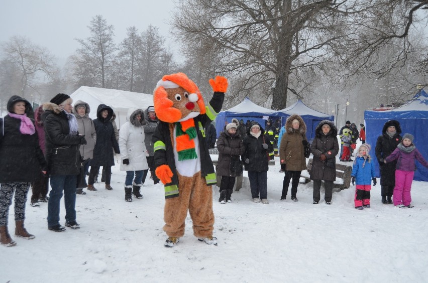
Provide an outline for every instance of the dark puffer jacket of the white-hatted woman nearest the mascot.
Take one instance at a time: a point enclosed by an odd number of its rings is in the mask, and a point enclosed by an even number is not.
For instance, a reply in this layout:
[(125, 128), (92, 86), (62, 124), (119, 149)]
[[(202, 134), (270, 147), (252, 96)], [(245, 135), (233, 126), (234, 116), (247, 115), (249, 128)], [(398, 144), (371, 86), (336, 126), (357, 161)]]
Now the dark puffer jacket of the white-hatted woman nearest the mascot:
[(240, 156), (244, 154), (245, 148), (241, 134), (237, 131), (234, 136), (228, 131), (222, 131), (217, 140), (219, 150), (219, 161), (217, 163), (217, 175), (236, 177), (240, 174), (231, 171), (231, 160), (240, 161)]

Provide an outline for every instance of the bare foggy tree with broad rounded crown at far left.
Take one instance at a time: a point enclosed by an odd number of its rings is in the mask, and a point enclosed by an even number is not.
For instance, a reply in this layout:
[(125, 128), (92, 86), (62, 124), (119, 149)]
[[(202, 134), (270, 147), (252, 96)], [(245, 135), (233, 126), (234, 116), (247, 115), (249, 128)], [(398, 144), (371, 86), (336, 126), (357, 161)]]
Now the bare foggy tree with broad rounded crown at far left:
[(52, 76), (55, 69), (54, 56), (46, 48), (22, 36), (12, 37), (4, 44), (3, 50), (6, 60), (15, 70), (19, 70), (21, 96), (29, 99), (26, 97), (27, 89), (34, 88), (36, 76)]

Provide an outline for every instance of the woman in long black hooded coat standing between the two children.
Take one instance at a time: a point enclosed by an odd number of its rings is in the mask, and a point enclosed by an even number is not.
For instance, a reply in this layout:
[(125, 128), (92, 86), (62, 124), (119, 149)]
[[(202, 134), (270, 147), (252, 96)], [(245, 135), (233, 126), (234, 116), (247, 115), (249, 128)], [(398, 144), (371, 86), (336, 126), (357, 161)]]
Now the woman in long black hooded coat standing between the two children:
[(382, 135), (376, 141), (375, 154), (380, 171), (380, 195), (383, 204), (392, 203), (392, 193), (395, 187), (395, 165), (397, 161), (385, 164), (387, 158), (401, 142), (401, 127), (396, 120), (386, 121), (383, 125)]

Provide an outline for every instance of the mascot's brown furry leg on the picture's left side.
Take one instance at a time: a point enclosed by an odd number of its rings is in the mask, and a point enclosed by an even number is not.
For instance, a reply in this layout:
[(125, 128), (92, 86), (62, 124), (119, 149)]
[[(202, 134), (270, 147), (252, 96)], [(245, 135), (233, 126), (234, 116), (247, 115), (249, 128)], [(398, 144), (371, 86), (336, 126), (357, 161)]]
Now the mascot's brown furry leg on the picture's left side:
[[(187, 179), (189, 181), (187, 181)], [(180, 238), (184, 235), (184, 220), (187, 216), (187, 209), (189, 207), (189, 199), (192, 186), (184, 186), (184, 184), (191, 184), (192, 178), (183, 177), (178, 174), (179, 182), (179, 196), (176, 198), (165, 199), (164, 208), (164, 221), (165, 225), (163, 230), (168, 237)]]

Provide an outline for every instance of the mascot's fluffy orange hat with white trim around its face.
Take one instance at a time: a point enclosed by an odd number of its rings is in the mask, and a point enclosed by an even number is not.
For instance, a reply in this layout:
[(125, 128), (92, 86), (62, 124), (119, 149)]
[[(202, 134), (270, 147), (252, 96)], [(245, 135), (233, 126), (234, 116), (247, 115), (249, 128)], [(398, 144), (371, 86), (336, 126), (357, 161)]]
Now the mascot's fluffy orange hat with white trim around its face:
[(156, 116), (159, 120), (174, 123), (181, 118), (181, 111), (173, 108), (173, 102), (168, 98), (165, 88), (184, 88), (189, 94), (195, 93), (198, 97), (196, 103), (200, 108), (200, 113), (205, 114), (205, 103), (203, 102), (202, 95), (196, 84), (189, 79), (184, 73), (175, 73), (165, 75), (158, 81), (155, 91), (153, 92), (153, 101)]

